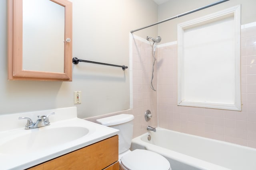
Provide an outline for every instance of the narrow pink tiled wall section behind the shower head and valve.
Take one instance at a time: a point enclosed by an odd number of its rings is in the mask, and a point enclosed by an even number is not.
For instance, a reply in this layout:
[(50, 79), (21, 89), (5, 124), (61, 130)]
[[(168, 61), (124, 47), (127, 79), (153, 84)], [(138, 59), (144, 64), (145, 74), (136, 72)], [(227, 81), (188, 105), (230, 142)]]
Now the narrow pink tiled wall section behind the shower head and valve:
[[(134, 137), (146, 133), (147, 125), (157, 127), (157, 92), (150, 88), (152, 75), (152, 44), (141, 41), (134, 37), (132, 39), (132, 89), (133, 89), (133, 114)], [(157, 57), (157, 55), (156, 55)], [(153, 86), (157, 89), (157, 62), (154, 66)], [(152, 119), (146, 122), (144, 114), (149, 109)]]

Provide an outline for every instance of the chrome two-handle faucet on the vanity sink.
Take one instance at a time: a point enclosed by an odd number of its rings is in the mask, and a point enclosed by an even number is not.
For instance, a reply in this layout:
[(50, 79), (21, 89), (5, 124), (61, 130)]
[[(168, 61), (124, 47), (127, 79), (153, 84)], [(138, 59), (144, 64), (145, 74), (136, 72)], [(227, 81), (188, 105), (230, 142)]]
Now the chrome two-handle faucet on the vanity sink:
[(53, 115), (53, 114), (55, 114), (55, 113), (50, 113), (46, 116), (37, 116), (38, 119), (36, 120), (35, 123), (33, 123), (33, 121), (28, 117), (19, 117), (19, 119), (26, 119), (27, 120), (27, 124), (25, 126), (25, 129), (34, 129), (34, 128), (50, 125), (50, 121), (49, 121), (48, 117), (49, 117), (49, 115)]

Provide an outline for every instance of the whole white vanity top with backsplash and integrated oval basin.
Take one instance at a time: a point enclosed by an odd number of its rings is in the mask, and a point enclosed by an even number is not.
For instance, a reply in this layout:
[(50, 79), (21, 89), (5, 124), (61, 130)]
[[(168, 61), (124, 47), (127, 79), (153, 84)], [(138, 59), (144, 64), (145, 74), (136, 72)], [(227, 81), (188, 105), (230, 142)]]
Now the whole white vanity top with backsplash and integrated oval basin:
[[(26, 120), (51, 115), (51, 125), (24, 129)], [(117, 129), (77, 118), (76, 107), (0, 115), (0, 170), (27, 169), (118, 134)]]

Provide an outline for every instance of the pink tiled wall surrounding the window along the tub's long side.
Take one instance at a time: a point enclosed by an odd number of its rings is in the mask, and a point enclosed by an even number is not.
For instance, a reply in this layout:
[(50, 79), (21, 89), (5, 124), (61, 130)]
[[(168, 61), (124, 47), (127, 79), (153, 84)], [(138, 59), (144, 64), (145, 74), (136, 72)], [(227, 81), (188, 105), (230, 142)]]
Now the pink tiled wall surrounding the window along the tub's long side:
[(177, 106), (177, 45), (158, 48), (158, 126), (256, 148), (256, 26), (241, 29), (242, 111)]

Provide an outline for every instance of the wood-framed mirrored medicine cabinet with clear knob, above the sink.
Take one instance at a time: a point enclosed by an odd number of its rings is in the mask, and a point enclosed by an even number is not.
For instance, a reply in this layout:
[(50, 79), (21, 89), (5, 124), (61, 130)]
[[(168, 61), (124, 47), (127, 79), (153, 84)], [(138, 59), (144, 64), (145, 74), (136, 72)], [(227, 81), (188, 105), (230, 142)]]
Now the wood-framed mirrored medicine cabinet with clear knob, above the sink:
[(72, 81), (72, 3), (8, 0), (8, 79)]

